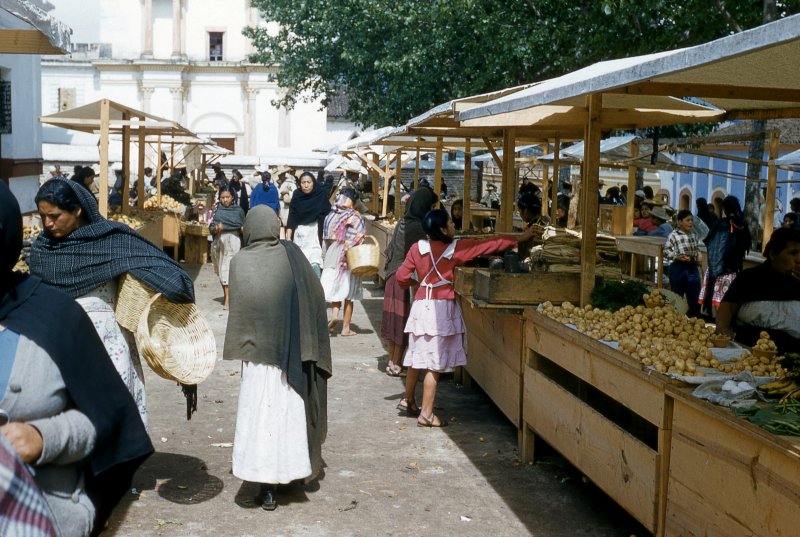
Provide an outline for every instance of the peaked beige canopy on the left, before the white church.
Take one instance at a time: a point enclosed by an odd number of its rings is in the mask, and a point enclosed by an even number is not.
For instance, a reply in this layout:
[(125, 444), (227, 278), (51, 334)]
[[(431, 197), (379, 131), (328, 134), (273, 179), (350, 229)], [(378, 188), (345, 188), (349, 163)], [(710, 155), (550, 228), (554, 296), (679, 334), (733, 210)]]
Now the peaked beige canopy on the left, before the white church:
[[(101, 128), (101, 108), (104, 99), (90, 104), (56, 112), (39, 118), (41, 123), (63, 127), (82, 132), (96, 133)], [(109, 104), (109, 133), (122, 134), (124, 127), (130, 127), (132, 132), (143, 130), (145, 135), (161, 134), (172, 136), (196, 137), (196, 135), (182, 127), (179, 123), (163, 119), (135, 108), (108, 100)], [(131, 119), (124, 119), (128, 116)]]

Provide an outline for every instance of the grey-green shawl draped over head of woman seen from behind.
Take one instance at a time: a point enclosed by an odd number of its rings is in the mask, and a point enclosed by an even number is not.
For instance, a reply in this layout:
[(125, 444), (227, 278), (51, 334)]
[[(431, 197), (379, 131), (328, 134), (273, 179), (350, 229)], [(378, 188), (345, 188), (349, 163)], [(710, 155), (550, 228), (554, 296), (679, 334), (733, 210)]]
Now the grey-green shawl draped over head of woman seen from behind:
[(300, 248), (278, 240), (279, 233), (280, 220), (272, 209), (257, 206), (247, 213), (244, 246), (231, 261), (223, 357), (273, 365), (286, 373), (305, 403), (310, 481), (322, 468), (332, 374), (325, 293)]

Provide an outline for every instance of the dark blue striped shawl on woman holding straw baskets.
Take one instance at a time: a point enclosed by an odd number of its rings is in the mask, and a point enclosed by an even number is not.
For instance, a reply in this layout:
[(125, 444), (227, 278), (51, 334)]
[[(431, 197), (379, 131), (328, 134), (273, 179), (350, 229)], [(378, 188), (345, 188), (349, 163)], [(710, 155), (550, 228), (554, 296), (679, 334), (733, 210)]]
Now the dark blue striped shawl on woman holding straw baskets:
[(61, 239), (46, 230), (39, 235), (31, 247), (32, 274), (78, 298), (130, 272), (171, 302), (194, 302), (192, 279), (180, 264), (125, 224), (103, 218), (85, 188), (64, 179), (51, 181), (69, 185), (89, 223)]

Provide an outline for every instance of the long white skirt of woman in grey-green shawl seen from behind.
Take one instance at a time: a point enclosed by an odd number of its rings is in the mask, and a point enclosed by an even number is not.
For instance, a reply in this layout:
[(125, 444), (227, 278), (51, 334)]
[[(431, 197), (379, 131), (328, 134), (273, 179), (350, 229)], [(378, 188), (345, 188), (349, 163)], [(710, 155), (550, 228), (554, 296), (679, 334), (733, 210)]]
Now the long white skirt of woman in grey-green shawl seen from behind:
[(279, 367), (242, 362), (233, 475), (269, 484), (311, 475), (305, 404)]

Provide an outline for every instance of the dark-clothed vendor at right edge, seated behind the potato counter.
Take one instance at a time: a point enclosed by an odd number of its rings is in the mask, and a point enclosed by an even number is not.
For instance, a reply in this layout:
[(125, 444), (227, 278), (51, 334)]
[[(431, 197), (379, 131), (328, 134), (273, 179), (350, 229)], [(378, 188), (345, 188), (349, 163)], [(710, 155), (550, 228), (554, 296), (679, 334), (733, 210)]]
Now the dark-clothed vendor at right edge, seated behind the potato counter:
[(754, 345), (769, 333), (778, 353), (800, 352), (800, 231), (775, 230), (766, 261), (739, 273), (717, 310), (717, 333)]

